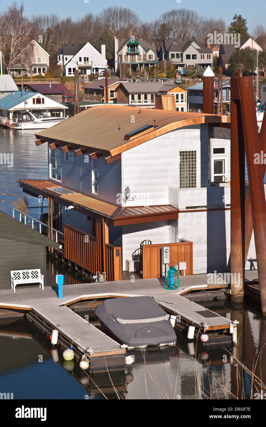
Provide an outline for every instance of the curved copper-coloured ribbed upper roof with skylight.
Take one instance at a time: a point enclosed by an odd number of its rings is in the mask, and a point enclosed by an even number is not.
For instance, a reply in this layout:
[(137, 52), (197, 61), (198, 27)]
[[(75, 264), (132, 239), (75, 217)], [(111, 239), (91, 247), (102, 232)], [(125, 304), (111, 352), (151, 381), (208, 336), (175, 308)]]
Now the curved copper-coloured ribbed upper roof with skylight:
[[(44, 141), (103, 150), (111, 156), (172, 130), (202, 123), (230, 123), (230, 117), (123, 105), (95, 105), (35, 134)], [(145, 125), (154, 129), (128, 141), (125, 135)], [(133, 143), (133, 145), (132, 145)]]

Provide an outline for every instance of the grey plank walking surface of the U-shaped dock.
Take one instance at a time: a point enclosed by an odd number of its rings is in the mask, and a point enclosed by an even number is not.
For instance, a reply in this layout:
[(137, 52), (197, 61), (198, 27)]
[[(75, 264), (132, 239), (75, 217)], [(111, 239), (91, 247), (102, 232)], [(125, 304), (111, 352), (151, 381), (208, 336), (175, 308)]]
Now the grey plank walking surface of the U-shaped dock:
[[(256, 271), (248, 272), (248, 276), (254, 278)], [(63, 286), (64, 298), (58, 299), (56, 287), (17, 289), (0, 291), (0, 306), (6, 308), (9, 305), (16, 307), (30, 306), (36, 313), (47, 319), (54, 326), (60, 325), (59, 331), (67, 335), (70, 340), (74, 337), (80, 341), (76, 343), (80, 348), (91, 347), (94, 354), (97, 352), (120, 351), (120, 346), (113, 339), (106, 336), (94, 326), (85, 322), (82, 317), (74, 313), (62, 304), (69, 303), (79, 297), (91, 297), (95, 295), (149, 295), (153, 296), (166, 310), (172, 310), (182, 317), (192, 320), (196, 324), (208, 323), (210, 327), (227, 325), (229, 320), (216, 316), (206, 318), (197, 312), (204, 311), (204, 307), (187, 300), (179, 293), (187, 292), (193, 288), (208, 288), (207, 275), (192, 275), (179, 277), (179, 289), (175, 291), (164, 289), (164, 281), (158, 278), (114, 281), (94, 284), (73, 284)], [(210, 310), (206, 310), (210, 313)]]

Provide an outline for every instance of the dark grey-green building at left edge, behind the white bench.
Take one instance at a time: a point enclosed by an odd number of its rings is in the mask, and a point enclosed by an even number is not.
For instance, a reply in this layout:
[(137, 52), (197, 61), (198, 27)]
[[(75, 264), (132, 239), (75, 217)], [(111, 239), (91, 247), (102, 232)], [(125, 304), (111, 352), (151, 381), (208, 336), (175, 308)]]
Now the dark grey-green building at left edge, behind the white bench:
[[(59, 244), (0, 211), (0, 290), (11, 289), (12, 270), (41, 269), (46, 281), (46, 247)], [(38, 284), (19, 287), (39, 287)]]

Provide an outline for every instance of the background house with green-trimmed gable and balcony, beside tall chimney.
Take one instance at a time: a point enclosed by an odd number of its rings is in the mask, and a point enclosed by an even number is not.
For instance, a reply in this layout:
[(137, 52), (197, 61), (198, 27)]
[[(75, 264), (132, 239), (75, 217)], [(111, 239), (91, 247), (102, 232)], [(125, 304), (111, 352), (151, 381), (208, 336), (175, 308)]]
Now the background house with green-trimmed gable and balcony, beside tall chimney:
[(114, 36), (114, 72), (120, 66), (124, 66), (125, 69), (128, 66), (129, 73), (137, 70), (143, 72), (145, 67), (158, 64), (159, 58), (153, 42), (146, 42), (142, 38), (135, 38), (134, 35), (128, 38), (116, 38)]

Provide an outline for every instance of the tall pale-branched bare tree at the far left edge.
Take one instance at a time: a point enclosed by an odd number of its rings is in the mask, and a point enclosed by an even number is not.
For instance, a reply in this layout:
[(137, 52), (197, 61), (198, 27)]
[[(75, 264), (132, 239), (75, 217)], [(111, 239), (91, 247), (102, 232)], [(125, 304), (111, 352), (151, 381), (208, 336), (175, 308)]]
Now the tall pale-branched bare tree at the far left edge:
[(0, 50), (8, 73), (14, 65), (23, 65), (23, 51), (31, 36), (32, 26), (29, 20), (23, 17), (22, 4), (18, 7), (14, 3), (0, 15)]

